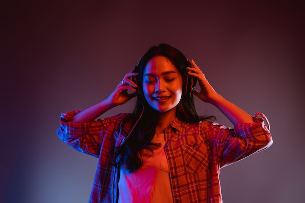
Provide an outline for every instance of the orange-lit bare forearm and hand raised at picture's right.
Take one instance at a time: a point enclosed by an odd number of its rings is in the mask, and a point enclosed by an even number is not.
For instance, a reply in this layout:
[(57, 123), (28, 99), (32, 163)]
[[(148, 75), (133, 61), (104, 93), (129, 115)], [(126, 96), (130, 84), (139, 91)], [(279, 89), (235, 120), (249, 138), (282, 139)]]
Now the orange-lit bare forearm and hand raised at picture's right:
[(243, 111), (233, 103), (223, 98), (212, 88), (205, 75), (202, 73), (202, 71), (199, 69), (199, 67), (195, 64), (193, 60), (191, 60), (191, 65), (192, 67), (188, 68), (189, 74), (194, 77), (197, 77), (200, 85), (200, 92), (194, 90), (194, 95), (196, 95), (202, 101), (210, 103), (217, 107), (230, 120), (233, 125), (238, 123), (254, 122), (252, 116), (250, 116), (247, 112)]

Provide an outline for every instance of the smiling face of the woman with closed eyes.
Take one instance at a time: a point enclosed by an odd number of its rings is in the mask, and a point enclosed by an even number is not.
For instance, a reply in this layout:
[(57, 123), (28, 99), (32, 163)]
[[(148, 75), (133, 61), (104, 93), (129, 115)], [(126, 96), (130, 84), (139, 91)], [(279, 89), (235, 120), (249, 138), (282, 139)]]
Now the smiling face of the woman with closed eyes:
[(170, 59), (154, 56), (143, 74), (143, 92), (156, 111), (175, 111), (182, 95), (182, 76)]

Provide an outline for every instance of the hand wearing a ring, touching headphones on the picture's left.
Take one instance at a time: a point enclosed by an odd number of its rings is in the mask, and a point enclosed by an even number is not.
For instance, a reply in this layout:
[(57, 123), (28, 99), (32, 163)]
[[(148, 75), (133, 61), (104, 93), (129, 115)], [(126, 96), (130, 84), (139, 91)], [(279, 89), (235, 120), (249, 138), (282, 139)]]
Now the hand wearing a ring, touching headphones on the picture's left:
[[(124, 104), (135, 96), (138, 86), (132, 78), (136, 76), (138, 76), (138, 73), (133, 73), (133, 70), (124, 76), (123, 80), (116, 86), (114, 92), (106, 99), (110, 106), (115, 107)], [(132, 93), (129, 93), (128, 90), (131, 90)]]

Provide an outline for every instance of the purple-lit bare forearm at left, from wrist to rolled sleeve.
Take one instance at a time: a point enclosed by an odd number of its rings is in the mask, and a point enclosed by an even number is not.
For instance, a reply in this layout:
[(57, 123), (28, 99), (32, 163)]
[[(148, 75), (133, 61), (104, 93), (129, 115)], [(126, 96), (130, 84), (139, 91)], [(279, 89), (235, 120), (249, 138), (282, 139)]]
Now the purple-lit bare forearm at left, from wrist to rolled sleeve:
[(94, 121), (97, 117), (112, 109), (113, 107), (114, 106), (110, 105), (106, 100), (103, 100), (100, 103), (89, 107), (88, 109), (80, 111), (71, 118), (70, 122), (86, 123)]

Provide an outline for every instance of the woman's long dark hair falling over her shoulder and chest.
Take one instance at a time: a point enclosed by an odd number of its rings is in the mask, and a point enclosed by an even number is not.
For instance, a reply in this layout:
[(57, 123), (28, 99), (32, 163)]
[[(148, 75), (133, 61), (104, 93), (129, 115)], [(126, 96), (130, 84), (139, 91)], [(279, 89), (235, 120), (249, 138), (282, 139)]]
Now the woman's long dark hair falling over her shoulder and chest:
[[(147, 53), (141, 58), (138, 63), (138, 88), (139, 93), (137, 95), (137, 102), (133, 110), (133, 114), (130, 117), (133, 123), (135, 123), (140, 115), (143, 115), (138, 121), (137, 125), (133, 129), (130, 136), (126, 139), (124, 144), (115, 149), (114, 163), (116, 166), (124, 166), (130, 172), (140, 168), (143, 164), (140, 151), (142, 149), (148, 149), (153, 155), (153, 149), (159, 145), (152, 143), (152, 138), (155, 133), (155, 128), (158, 121), (158, 112), (148, 104), (143, 96), (143, 73), (146, 64), (152, 57), (162, 55), (169, 58), (172, 64), (180, 72), (182, 78), (184, 78), (186, 69), (186, 63), (188, 59), (176, 48), (168, 44), (160, 44), (159, 46), (151, 47)], [(185, 81), (183, 81), (185, 82)], [(185, 96), (185, 90), (182, 91), (182, 98), (176, 108), (176, 117), (186, 123), (198, 123), (204, 120), (216, 120), (214, 116), (199, 116), (195, 104), (193, 95), (191, 97)], [(131, 122), (127, 119), (125, 122)]]

